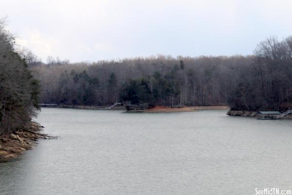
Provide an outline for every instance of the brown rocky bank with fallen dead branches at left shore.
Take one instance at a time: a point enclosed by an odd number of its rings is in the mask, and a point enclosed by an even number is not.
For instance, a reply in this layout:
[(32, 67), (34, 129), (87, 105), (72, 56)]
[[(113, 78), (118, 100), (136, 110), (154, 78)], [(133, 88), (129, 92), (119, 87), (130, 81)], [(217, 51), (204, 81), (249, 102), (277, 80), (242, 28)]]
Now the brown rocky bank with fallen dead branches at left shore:
[(10, 135), (0, 135), (0, 162), (7, 162), (34, 148), (39, 138), (57, 138), (39, 133), (42, 128), (40, 124), (31, 122), (29, 129), (19, 129)]

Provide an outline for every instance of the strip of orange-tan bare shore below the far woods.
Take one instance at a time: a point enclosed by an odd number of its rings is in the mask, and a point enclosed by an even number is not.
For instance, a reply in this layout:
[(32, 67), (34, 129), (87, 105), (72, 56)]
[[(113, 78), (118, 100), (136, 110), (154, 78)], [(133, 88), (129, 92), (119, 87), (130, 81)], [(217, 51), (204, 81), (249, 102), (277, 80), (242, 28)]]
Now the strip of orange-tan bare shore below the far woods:
[(184, 106), (182, 108), (171, 108), (166, 106), (155, 106), (147, 109), (144, 112), (159, 113), (159, 112), (193, 112), (197, 110), (228, 110), (229, 106)]

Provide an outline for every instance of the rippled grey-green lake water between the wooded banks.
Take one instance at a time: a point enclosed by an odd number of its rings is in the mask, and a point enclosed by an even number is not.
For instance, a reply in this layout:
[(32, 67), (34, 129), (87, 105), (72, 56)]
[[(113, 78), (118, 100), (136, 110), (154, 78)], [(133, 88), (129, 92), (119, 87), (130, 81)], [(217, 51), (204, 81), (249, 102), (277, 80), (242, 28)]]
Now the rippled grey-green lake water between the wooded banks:
[(254, 195), (292, 189), (292, 120), (43, 108), (57, 140), (0, 164), (0, 195)]

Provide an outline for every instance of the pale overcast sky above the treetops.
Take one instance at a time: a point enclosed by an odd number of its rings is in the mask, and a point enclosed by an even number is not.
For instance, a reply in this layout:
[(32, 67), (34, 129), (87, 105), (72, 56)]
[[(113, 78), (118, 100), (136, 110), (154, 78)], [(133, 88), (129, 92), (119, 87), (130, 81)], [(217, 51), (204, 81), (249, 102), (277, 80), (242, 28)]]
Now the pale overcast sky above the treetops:
[(248, 55), (292, 35), (291, 0), (0, 0), (5, 16), (43, 61)]

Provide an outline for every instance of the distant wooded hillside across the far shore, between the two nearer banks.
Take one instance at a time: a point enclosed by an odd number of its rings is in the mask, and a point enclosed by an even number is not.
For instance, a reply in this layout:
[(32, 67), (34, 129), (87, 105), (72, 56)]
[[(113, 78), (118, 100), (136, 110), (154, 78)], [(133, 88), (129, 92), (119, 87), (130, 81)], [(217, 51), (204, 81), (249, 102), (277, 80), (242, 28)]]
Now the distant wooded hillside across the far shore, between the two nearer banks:
[[(167, 56), (32, 67), (44, 103), (108, 105), (118, 99), (159, 105), (226, 104), (251, 57)], [(234, 74), (236, 73), (236, 74)], [(239, 78), (238, 78), (239, 79)]]

